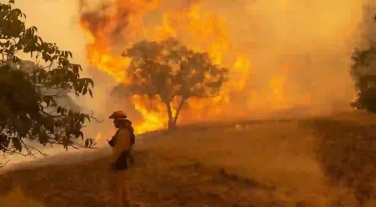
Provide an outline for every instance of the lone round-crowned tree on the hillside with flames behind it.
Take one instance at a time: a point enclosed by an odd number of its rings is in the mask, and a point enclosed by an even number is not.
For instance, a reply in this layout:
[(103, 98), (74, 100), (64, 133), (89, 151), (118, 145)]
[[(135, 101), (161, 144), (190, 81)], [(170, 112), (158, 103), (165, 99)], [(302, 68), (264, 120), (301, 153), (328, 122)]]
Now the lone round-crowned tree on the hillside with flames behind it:
[[(175, 128), (180, 110), (191, 97), (217, 96), (229, 71), (213, 64), (208, 53), (194, 52), (174, 38), (138, 42), (122, 56), (131, 60), (126, 69), (129, 80), (114, 91), (158, 97), (166, 105), (169, 129)], [(178, 100), (176, 114), (173, 100)]]

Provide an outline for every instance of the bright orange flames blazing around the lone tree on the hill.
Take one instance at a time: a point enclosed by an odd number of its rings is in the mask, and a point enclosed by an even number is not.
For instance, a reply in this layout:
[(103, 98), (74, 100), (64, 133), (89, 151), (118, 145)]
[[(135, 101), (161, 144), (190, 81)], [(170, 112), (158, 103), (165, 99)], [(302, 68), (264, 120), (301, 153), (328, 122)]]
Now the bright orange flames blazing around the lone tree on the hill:
[[(246, 55), (231, 47), (228, 29), (221, 17), (205, 11), (200, 2), (178, 9), (165, 9), (159, 23), (144, 25), (143, 19), (155, 18), (148, 15), (161, 8), (164, 2), (167, 0), (112, 0), (98, 10), (83, 12), (80, 24), (89, 39), (86, 45), (88, 63), (113, 76), (117, 82), (126, 82), (125, 68), (129, 59), (121, 57), (121, 51), (139, 40), (176, 37), (196, 51), (208, 52), (215, 64), (230, 68), (230, 81), (223, 86), (221, 94), (212, 99), (191, 98), (181, 111), (179, 120), (221, 116), (230, 109), (233, 97), (241, 96), (247, 90), (252, 73), (251, 63)], [(284, 92), (280, 89), (283, 84), (284, 78), (281, 77), (270, 80), (271, 94), (277, 96), (279, 102), (285, 101)], [(133, 96), (133, 103), (143, 117), (135, 125), (136, 134), (167, 126), (164, 104), (140, 96)], [(171, 106), (174, 108), (176, 104), (173, 102)]]

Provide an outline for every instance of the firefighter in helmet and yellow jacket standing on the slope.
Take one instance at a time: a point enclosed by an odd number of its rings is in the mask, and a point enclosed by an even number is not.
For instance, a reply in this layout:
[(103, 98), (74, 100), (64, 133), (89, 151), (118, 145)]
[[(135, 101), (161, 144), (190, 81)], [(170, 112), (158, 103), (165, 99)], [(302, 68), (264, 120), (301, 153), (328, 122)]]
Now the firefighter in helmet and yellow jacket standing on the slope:
[(130, 155), (132, 145), (135, 142), (132, 122), (127, 119), (123, 111), (115, 111), (109, 118), (114, 119), (114, 125), (118, 129), (114, 137), (108, 142), (113, 148), (110, 168), (115, 172), (118, 206), (131, 207), (127, 169), (129, 164), (134, 162), (133, 157)]

